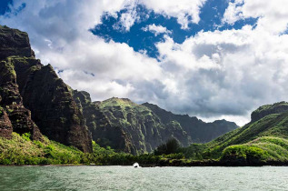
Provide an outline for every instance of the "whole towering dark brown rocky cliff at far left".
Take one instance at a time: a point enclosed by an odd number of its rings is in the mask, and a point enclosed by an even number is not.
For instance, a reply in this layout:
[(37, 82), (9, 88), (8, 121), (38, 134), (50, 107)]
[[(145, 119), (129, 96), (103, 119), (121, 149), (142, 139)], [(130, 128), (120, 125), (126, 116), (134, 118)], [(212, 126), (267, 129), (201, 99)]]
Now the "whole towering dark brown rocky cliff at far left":
[(0, 129), (10, 129), (1, 131), (11, 131), (7, 114), (13, 131), (19, 134), (31, 133), (33, 139), (41, 139), (42, 133), (67, 146), (91, 152), (90, 132), (72, 90), (51, 65), (42, 65), (35, 59), (28, 35), (0, 27), (0, 39), (0, 106), (4, 110)]

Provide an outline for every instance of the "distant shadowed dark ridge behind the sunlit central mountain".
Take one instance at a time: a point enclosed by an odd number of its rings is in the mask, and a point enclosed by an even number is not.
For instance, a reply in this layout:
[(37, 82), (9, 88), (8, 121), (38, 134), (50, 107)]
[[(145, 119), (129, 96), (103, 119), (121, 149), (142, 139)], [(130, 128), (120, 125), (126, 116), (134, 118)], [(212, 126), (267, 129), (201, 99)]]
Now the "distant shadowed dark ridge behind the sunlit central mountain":
[(194, 143), (205, 143), (213, 140), (218, 136), (232, 131), (238, 126), (233, 122), (225, 120), (214, 121), (213, 123), (205, 123), (195, 116), (188, 115), (174, 115), (171, 112), (165, 111), (159, 106), (144, 103), (143, 106), (150, 108), (156, 116), (159, 116), (160, 120), (167, 124), (170, 121), (176, 121), (179, 123), (188, 136), (191, 136)]

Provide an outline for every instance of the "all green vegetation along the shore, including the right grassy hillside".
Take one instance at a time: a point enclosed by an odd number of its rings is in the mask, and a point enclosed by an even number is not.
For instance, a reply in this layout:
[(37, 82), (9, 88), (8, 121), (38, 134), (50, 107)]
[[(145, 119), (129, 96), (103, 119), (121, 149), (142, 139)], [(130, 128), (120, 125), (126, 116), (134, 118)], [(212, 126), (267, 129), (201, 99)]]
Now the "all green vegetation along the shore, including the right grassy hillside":
[(153, 154), (133, 156), (117, 153), (111, 147), (93, 142), (92, 154), (64, 146), (44, 137), (31, 141), (29, 134), (13, 133), (12, 139), (0, 137), (2, 165), (265, 165), (288, 162), (288, 113), (272, 114), (235, 129), (207, 144), (182, 147), (176, 139), (158, 146)]

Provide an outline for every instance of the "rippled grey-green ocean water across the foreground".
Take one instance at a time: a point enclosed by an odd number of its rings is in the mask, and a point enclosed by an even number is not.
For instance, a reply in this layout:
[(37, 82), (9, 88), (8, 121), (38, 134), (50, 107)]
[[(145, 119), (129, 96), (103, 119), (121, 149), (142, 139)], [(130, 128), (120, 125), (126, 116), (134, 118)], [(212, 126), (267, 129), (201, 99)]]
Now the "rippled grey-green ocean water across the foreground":
[(0, 190), (288, 190), (288, 167), (0, 166)]

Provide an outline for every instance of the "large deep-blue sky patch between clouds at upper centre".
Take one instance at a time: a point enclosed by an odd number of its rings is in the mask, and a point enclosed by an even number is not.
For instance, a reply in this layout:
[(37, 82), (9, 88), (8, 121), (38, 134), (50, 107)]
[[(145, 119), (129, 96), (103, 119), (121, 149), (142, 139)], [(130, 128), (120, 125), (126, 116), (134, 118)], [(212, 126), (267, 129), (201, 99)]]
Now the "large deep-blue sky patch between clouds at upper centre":
[[(157, 14), (153, 10), (148, 10), (144, 5), (137, 5), (135, 9), (139, 18), (128, 31), (120, 22), (121, 15), (127, 13), (127, 9), (117, 12), (116, 16), (109, 13), (102, 15), (102, 24), (95, 25), (91, 31), (106, 41), (114, 40), (117, 43), (126, 43), (132, 46), (134, 51), (145, 50), (147, 55), (156, 58), (159, 53), (155, 44), (164, 41), (164, 35), (169, 35), (175, 43), (182, 44), (186, 38), (196, 35), (200, 31), (240, 29), (243, 25), (256, 24), (257, 18), (245, 18), (233, 25), (223, 24), (223, 14), (227, 6), (227, 0), (207, 1), (200, 10), (200, 22), (198, 24), (190, 23), (188, 28), (183, 29), (176, 17)], [(118, 27), (114, 27), (115, 25)], [(147, 25), (162, 25), (172, 33), (154, 35), (152, 32), (143, 30)]]

